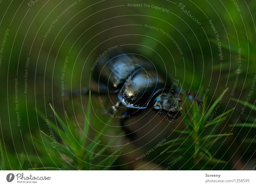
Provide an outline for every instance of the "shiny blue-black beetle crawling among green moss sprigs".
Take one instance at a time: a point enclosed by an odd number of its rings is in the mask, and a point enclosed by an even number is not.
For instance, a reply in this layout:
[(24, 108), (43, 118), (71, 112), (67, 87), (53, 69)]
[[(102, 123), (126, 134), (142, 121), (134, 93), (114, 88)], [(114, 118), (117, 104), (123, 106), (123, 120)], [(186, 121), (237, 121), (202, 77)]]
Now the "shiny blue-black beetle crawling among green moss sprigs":
[[(181, 115), (177, 106), (181, 101), (180, 88), (177, 85), (171, 87), (172, 81), (164, 78), (159, 71), (157, 73), (154, 64), (146, 57), (119, 51), (109, 52), (96, 64), (93, 78), (98, 82), (99, 91), (92, 93), (117, 94), (118, 100), (110, 113), (114, 113), (121, 104), (127, 107), (121, 117), (121, 126), (130, 139), (135, 135), (124, 124), (128, 115), (137, 115), (146, 108), (153, 108), (159, 115), (168, 117), (170, 122)], [(73, 91), (71, 96), (88, 92), (89, 88), (84, 87)]]

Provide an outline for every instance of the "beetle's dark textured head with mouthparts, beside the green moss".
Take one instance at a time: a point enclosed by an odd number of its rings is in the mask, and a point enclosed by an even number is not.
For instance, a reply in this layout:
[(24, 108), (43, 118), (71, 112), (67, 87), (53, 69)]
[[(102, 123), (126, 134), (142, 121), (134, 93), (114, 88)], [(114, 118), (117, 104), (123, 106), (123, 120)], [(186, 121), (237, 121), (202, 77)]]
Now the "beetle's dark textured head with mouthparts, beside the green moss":
[[(154, 109), (160, 114), (160, 116), (168, 117), (169, 121), (180, 117), (179, 104), (180, 98), (174, 97), (173, 94), (162, 93), (155, 99)], [(176, 104), (177, 103), (177, 104)]]

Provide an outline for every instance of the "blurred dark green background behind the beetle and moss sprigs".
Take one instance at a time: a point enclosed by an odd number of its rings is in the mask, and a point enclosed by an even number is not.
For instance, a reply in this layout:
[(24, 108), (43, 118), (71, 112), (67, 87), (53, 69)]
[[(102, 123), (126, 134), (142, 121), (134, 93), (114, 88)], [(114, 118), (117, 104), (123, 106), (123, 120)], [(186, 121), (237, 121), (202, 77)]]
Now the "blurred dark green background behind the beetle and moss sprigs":
[[(130, 7), (128, 4), (141, 6)], [(144, 4), (148, 4), (149, 7), (145, 7)], [(166, 8), (166, 11), (157, 10), (154, 5)], [(223, 138), (211, 149), (214, 157), (221, 158), (227, 163), (193, 167), (183, 159), (184, 162), (180, 161), (171, 169), (255, 169), (255, 125), (229, 126), (255, 121), (254, 110), (246, 107), (241, 115), (243, 104), (230, 99), (245, 101), (250, 98), (249, 103), (255, 103), (256, 90), (252, 87), (256, 74), (254, 0), (3, 0), (0, 3), (0, 10), (0, 43), (4, 45), (0, 66), (0, 140), (3, 149), (1, 156), (7, 164), (5, 169), (19, 169), (23, 156), (25, 158), (22, 169), (49, 167), (53, 164), (47, 158), (40, 161), (39, 157), (43, 153), (38, 151), (32, 140), (32, 137), (39, 140), (42, 138), (40, 130), (48, 131), (44, 119), (36, 111), (41, 111), (47, 118), (55, 121), (49, 106), (51, 103), (62, 118), (65, 118), (66, 110), (75, 125), (83, 123), (88, 96), (65, 100), (61, 96), (61, 87), (63, 85), (65, 93), (71, 88), (89, 84), (95, 87), (90, 79), (92, 65), (104, 50), (116, 45), (121, 50), (129, 49), (147, 56), (160, 71), (173, 79), (179, 79), (182, 87), (197, 95), (199, 99), (204, 90), (209, 88), (208, 106), (224, 89), (229, 88), (217, 113), (219, 115), (230, 108), (235, 109), (218, 130), (233, 135)], [(190, 14), (201, 24), (196, 23)], [(159, 29), (150, 29), (145, 24)], [(217, 33), (214, 33), (213, 26)], [(46, 35), (49, 29), (51, 30)], [(165, 33), (161, 33), (160, 29)], [(167, 33), (177, 42), (182, 55)], [(216, 34), (219, 35), (219, 41)], [(68, 63), (63, 75), (62, 70), (67, 56)], [(237, 72), (240, 74), (237, 75)], [(26, 75), (28, 77), (25, 77)], [(24, 93), (26, 88), (27, 92)], [(102, 99), (108, 107), (108, 97), (102, 96)], [(106, 121), (97, 96), (92, 95), (92, 107), (91, 115), (94, 122), (88, 134), (89, 138), (93, 138), (100, 131), (104, 125), (101, 121)], [(143, 122), (150, 121), (152, 117), (150, 113), (146, 114)], [(143, 122), (139, 121), (137, 125)], [(113, 119), (103, 142), (112, 138), (109, 136), (124, 135), (121, 129), (116, 127), (119, 126), (118, 123), (118, 119)], [(154, 118), (150, 123), (154, 126), (155, 123), (159, 123), (159, 118)], [(149, 170), (167, 167), (163, 161), (166, 157), (158, 156), (157, 152), (134, 161), (163, 138), (167, 138), (173, 128), (172, 125), (167, 125), (168, 122), (163, 121), (150, 135), (127, 145), (116, 160), (115, 167), (110, 169)], [(179, 127), (184, 129), (182, 121)], [(156, 138), (152, 140), (152, 136)], [(245, 138), (252, 140), (245, 143)], [(172, 139), (172, 136), (168, 139)], [(120, 137), (116, 145), (126, 143), (127, 139)], [(116, 147), (109, 147), (107, 154), (111, 154), (115, 149)], [(41, 150), (44, 151), (44, 146)]]

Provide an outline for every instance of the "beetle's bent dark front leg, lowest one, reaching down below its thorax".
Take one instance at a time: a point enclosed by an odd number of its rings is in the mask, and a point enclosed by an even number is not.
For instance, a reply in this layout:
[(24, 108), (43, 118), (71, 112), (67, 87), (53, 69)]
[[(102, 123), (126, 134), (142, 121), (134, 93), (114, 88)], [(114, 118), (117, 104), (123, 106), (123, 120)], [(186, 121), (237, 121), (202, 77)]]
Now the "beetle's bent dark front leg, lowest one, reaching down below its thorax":
[(131, 117), (139, 114), (141, 112), (141, 109), (134, 109), (134, 108), (128, 108), (124, 114), (121, 116), (121, 127), (122, 130), (125, 132), (125, 137), (129, 138), (130, 140), (134, 140), (136, 137), (136, 134), (134, 131), (132, 131), (128, 126), (125, 125), (125, 122)]

